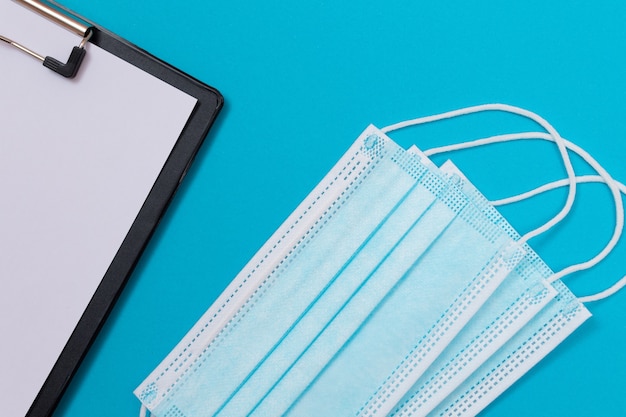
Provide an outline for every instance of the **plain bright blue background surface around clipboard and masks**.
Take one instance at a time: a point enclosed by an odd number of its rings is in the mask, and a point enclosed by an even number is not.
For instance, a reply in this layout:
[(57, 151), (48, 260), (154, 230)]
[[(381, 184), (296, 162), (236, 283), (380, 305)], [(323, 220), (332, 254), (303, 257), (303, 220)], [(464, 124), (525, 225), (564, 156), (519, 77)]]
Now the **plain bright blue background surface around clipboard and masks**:
[[(369, 123), (514, 104), (626, 180), (624, 2), (62, 3), (216, 87), (226, 105), (56, 416), (137, 415), (133, 389)], [(392, 137), (426, 149), (521, 129), (536, 127), (488, 114)], [(449, 156), (490, 198), (563, 176), (547, 143)], [(529, 231), (564, 196), (503, 212)], [(602, 185), (581, 186), (574, 213), (533, 246), (555, 270), (589, 259), (612, 232), (611, 204)], [(625, 256), (622, 244), (566, 283), (604, 289), (626, 274)], [(484, 415), (626, 415), (626, 290), (589, 309)]]

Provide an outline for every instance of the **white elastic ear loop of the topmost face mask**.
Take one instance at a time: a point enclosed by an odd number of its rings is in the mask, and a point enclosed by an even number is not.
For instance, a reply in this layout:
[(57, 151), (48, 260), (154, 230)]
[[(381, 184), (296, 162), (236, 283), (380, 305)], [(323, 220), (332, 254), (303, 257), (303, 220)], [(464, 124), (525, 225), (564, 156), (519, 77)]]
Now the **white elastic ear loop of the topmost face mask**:
[(463, 109), (435, 114), (432, 116), (419, 117), (417, 119), (407, 120), (404, 122), (400, 122), (400, 123), (396, 123), (396, 124), (384, 127), (381, 129), (381, 131), (384, 133), (388, 133), (393, 130), (398, 130), (398, 129), (402, 129), (402, 128), (409, 127), (409, 126), (416, 126), (420, 124), (431, 123), (431, 122), (436, 122), (440, 120), (451, 119), (454, 117), (465, 116), (469, 114), (481, 113), (481, 112), (486, 112), (486, 111), (501, 111), (505, 113), (516, 114), (518, 116), (526, 117), (534, 121), (541, 127), (543, 127), (550, 134), (550, 136), (554, 138), (554, 142), (556, 143), (559, 149), (559, 153), (561, 154), (561, 158), (563, 159), (563, 165), (565, 166), (565, 171), (567, 172), (567, 178), (569, 180), (569, 191), (567, 194), (567, 200), (565, 201), (565, 205), (563, 206), (561, 211), (556, 216), (554, 216), (550, 221), (548, 221), (546, 224), (522, 236), (520, 241), (522, 243), (525, 243), (528, 240), (532, 239), (533, 237), (536, 237), (544, 233), (545, 231), (551, 229), (556, 224), (558, 224), (561, 220), (563, 220), (565, 216), (567, 216), (567, 214), (570, 212), (572, 205), (574, 204), (574, 199), (576, 197), (576, 181), (574, 180), (576, 175), (574, 173), (574, 167), (572, 166), (572, 163), (569, 159), (569, 155), (567, 153), (564, 140), (561, 137), (561, 135), (559, 135), (559, 133), (556, 131), (556, 129), (550, 123), (548, 123), (547, 120), (545, 120), (544, 118), (542, 118), (536, 113), (533, 113), (526, 109), (522, 109), (520, 107), (511, 106), (508, 104), (495, 103), (495, 104), (482, 104), (478, 106), (466, 107)]

